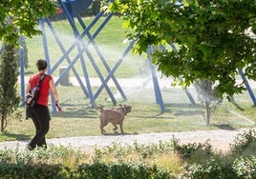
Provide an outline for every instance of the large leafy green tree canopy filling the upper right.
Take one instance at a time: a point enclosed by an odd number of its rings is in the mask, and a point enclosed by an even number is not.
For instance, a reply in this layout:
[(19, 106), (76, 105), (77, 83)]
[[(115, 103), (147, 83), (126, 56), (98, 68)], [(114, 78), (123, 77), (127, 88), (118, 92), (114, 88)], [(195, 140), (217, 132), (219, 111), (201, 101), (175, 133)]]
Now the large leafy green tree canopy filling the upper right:
[(178, 50), (154, 52), (153, 63), (166, 76), (181, 76), (185, 86), (213, 81), (223, 97), (245, 89), (236, 82), (238, 69), (256, 79), (255, 0), (115, 0), (109, 10), (133, 30), (135, 52), (175, 44)]

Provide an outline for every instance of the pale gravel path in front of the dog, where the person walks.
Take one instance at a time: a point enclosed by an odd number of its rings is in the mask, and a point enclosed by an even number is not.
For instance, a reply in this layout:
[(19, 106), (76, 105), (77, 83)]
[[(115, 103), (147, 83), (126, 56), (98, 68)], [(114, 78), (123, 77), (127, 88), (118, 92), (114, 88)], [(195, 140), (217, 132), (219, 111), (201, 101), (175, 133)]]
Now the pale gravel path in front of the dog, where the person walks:
[[(171, 138), (179, 140), (180, 144), (187, 143), (204, 143), (210, 140), (213, 149), (228, 151), (229, 144), (233, 144), (235, 137), (239, 133), (243, 133), (246, 129), (237, 130), (197, 130), (182, 132), (160, 132), (160, 133), (140, 133), (125, 135), (102, 135), (102, 136), (84, 136), (69, 138), (52, 138), (47, 139), (49, 145), (73, 147), (92, 151), (95, 147), (103, 148), (113, 143), (121, 145), (132, 145), (134, 142), (138, 144), (157, 144), (160, 141), (169, 141)], [(11, 141), (0, 143), (0, 149), (26, 149), (29, 141)]]

